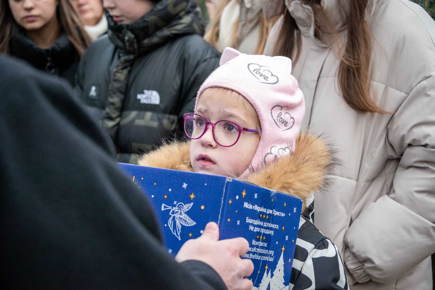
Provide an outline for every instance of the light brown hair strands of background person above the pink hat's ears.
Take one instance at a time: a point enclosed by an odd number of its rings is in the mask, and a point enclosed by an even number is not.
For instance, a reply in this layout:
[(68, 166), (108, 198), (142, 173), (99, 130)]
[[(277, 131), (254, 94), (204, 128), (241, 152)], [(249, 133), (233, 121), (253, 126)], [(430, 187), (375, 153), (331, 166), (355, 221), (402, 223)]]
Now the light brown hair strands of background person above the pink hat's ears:
[[(221, 0), (219, 1), (218, 7), (216, 7), (216, 12), (214, 13), (213, 17), (211, 17), (210, 25), (204, 34), (204, 40), (210, 43), (212, 46), (216, 47), (218, 43), (219, 38), (219, 24), (221, 22), (221, 16), (222, 11), (224, 10), (225, 6), (230, 3), (231, 0)], [(231, 41), (231, 47), (236, 48), (238, 46), (238, 39), (237, 39), (237, 33), (238, 33), (238, 24), (240, 22), (240, 17), (238, 17), (236, 21), (236, 25), (233, 27), (232, 31), (232, 41)], [(266, 46), (266, 40), (269, 36), (271, 25), (264, 17), (263, 11), (261, 10), (260, 14), (260, 38), (257, 43), (257, 47), (255, 49), (255, 54), (263, 54), (264, 46)]]

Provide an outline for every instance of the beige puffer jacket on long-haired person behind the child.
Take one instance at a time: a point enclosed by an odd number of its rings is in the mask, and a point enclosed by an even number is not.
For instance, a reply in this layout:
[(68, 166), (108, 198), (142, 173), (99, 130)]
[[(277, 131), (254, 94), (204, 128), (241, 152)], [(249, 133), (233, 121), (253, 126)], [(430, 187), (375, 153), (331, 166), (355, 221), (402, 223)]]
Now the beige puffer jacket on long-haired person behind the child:
[[(337, 2), (322, 4), (341, 28)], [(339, 60), (314, 37), (311, 8), (298, 0), (286, 5), (303, 35), (301, 58), (292, 69), (305, 95), (303, 125), (325, 132), (344, 161), (330, 190), (316, 199), (316, 226), (359, 282), (352, 289), (432, 289), (435, 22), (407, 0), (368, 0), (372, 85), (380, 106), (393, 114), (361, 113), (339, 93)]]

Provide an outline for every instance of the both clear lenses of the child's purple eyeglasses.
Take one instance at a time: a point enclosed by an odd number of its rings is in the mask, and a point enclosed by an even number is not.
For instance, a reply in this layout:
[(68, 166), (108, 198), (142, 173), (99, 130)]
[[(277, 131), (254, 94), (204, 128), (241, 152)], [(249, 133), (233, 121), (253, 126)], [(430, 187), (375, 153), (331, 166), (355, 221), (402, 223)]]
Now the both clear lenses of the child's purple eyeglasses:
[[(206, 121), (199, 115), (190, 114), (184, 122), (184, 131), (193, 138), (199, 138), (206, 129)], [(212, 128), (210, 128), (212, 129)], [(239, 129), (236, 124), (229, 121), (219, 121), (214, 125), (214, 138), (223, 146), (233, 145), (239, 137)]]

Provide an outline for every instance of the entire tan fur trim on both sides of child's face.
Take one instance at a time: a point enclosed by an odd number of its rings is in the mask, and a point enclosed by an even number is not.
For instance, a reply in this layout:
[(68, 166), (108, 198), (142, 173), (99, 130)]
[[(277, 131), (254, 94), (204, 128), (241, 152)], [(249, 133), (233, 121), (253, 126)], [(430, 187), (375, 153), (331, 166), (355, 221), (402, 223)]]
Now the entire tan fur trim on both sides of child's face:
[[(190, 142), (164, 144), (143, 155), (138, 165), (193, 171)], [(313, 195), (328, 186), (328, 175), (337, 164), (334, 150), (317, 135), (300, 133), (294, 150), (252, 171), (243, 181), (293, 195), (303, 201), (302, 212)], [(308, 202), (309, 203), (309, 202)]]

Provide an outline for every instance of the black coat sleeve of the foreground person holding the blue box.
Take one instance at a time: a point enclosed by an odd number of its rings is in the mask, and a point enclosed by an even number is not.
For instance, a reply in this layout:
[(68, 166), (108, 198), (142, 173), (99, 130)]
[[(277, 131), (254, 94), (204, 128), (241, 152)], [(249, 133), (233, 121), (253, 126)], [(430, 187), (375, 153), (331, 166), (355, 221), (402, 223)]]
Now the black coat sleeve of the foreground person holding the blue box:
[(66, 82), (3, 56), (0, 71), (5, 289), (226, 289), (210, 266), (166, 253), (151, 205)]

